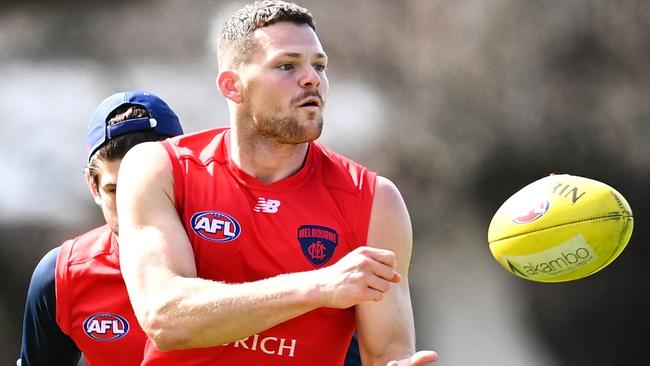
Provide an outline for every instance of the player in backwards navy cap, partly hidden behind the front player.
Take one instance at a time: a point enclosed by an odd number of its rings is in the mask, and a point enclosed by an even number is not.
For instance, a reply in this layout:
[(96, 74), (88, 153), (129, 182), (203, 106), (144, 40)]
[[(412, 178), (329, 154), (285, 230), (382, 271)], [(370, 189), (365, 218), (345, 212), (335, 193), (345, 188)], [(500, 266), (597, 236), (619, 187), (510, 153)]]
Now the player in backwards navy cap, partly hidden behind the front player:
[(115, 210), (118, 168), (144, 141), (183, 133), (157, 96), (117, 93), (95, 109), (88, 126), (88, 188), (106, 225), (52, 249), (34, 270), (23, 319), (22, 366), (136, 366), (146, 335), (129, 303), (120, 273)]

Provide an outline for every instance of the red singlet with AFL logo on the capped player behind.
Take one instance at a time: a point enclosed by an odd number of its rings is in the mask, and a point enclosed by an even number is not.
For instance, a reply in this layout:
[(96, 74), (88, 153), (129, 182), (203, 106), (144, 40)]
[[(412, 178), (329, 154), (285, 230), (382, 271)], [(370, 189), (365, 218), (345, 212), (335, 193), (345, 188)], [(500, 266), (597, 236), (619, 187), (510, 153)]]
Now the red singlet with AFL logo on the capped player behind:
[(89, 366), (140, 365), (146, 335), (120, 272), (108, 225), (61, 245), (55, 270), (56, 322)]

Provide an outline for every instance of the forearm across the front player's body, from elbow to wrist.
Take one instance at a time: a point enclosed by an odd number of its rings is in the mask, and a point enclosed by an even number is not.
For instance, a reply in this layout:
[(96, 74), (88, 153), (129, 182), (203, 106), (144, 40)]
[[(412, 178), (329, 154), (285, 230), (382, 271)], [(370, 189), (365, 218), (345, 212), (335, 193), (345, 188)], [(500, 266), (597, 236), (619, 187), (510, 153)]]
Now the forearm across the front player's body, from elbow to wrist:
[(234, 342), (322, 306), (314, 272), (243, 284), (175, 277), (152, 299), (143, 325), (160, 350)]

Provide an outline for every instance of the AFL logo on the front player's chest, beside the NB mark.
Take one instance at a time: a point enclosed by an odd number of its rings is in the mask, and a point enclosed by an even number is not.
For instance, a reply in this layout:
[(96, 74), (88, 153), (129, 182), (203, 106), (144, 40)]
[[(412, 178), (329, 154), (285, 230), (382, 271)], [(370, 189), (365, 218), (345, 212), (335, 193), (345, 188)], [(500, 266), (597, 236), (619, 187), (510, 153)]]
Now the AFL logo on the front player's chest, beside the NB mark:
[(219, 211), (201, 211), (190, 219), (192, 230), (205, 240), (226, 243), (237, 239), (241, 226), (234, 217)]

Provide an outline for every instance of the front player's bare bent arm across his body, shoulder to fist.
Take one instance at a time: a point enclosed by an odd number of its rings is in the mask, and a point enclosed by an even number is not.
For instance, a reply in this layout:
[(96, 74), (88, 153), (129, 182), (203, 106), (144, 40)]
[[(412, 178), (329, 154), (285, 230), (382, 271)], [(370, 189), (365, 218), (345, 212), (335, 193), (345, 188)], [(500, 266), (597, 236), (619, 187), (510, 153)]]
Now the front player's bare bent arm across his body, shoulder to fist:
[(117, 194), (121, 267), (138, 321), (161, 350), (225, 344), (318, 307), (378, 301), (399, 280), (393, 254), (372, 248), (328, 268), (256, 282), (197, 278), (173, 197), (164, 148), (144, 143), (129, 151)]

